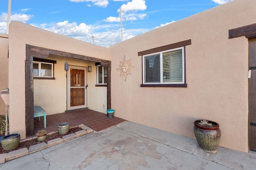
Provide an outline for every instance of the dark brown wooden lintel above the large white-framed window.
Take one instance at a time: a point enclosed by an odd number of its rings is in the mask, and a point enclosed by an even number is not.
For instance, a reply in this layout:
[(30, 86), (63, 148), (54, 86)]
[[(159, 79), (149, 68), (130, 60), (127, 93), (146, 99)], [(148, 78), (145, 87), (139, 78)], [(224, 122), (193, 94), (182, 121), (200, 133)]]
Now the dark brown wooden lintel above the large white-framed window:
[(145, 51), (140, 51), (140, 52), (138, 52), (138, 56), (157, 53), (157, 52), (160, 52), (160, 51), (166, 51), (166, 50), (170, 50), (170, 49), (176, 49), (176, 48), (179, 48), (179, 47), (185, 47), (186, 45), (191, 45), (191, 39), (188, 39), (186, 41), (180, 41), (180, 42), (174, 43), (174, 44), (164, 45), (164, 46), (161, 46), (161, 47), (156, 47), (154, 49), (148, 49), (148, 50), (145, 50)]

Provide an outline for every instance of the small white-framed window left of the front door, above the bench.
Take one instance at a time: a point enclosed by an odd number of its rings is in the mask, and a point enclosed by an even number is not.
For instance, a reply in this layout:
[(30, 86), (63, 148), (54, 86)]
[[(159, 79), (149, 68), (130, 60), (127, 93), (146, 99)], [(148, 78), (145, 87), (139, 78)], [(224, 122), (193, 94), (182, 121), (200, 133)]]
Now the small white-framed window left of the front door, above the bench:
[(53, 78), (53, 63), (33, 61), (34, 77)]

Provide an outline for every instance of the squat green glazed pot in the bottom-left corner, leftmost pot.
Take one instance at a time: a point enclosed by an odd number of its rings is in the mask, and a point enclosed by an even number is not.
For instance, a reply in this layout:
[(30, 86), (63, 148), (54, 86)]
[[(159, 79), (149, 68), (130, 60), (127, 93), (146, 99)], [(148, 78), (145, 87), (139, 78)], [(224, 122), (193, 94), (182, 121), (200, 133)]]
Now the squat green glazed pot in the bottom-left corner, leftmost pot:
[(18, 148), (20, 145), (20, 134), (11, 134), (3, 137), (1, 145), (4, 150), (12, 150)]

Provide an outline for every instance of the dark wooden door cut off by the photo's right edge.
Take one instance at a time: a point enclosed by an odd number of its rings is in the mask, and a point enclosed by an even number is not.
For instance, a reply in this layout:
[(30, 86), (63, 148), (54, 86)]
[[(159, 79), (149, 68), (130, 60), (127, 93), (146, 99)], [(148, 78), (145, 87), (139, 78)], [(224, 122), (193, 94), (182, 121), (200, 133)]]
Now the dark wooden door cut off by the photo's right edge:
[(249, 147), (256, 151), (256, 39), (249, 39)]

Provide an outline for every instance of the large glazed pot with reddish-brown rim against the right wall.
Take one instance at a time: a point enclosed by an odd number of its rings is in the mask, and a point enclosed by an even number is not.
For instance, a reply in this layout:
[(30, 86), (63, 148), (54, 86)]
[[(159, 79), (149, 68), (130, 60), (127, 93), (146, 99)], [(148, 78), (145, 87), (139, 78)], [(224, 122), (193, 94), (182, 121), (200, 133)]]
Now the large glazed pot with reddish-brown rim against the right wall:
[(198, 145), (206, 152), (217, 152), (221, 137), (220, 125), (214, 121), (208, 121), (213, 127), (206, 127), (198, 125), (200, 121), (194, 121), (194, 134)]

